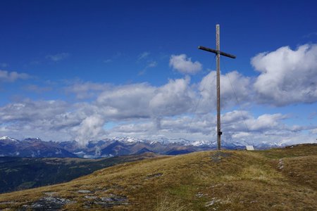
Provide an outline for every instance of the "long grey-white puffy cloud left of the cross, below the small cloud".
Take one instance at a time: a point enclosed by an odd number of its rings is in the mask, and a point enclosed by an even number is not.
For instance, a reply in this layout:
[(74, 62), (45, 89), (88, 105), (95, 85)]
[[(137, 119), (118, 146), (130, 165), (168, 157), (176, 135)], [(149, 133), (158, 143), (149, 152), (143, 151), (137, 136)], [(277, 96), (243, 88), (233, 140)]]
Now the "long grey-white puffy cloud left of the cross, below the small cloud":
[(114, 119), (178, 115), (192, 109), (195, 98), (190, 79), (170, 79), (161, 87), (130, 84), (113, 87), (97, 98), (99, 111)]

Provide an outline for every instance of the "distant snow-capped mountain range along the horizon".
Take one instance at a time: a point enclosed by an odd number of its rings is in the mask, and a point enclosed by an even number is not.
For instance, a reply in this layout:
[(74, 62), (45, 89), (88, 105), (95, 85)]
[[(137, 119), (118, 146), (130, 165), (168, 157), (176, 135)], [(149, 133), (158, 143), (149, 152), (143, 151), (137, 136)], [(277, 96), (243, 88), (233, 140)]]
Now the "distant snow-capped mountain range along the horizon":
[[(222, 141), (225, 149), (243, 149), (248, 143)], [(283, 143), (257, 143), (256, 149), (286, 146)], [(137, 155), (146, 152), (162, 155), (180, 155), (195, 151), (216, 149), (216, 141), (189, 141), (187, 139), (137, 139), (113, 137), (88, 141), (85, 146), (77, 141), (42, 141), (39, 138), (23, 140), (8, 136), (0, 138), (0, 156), (28, 158), (109, 158), (118, 155)]]

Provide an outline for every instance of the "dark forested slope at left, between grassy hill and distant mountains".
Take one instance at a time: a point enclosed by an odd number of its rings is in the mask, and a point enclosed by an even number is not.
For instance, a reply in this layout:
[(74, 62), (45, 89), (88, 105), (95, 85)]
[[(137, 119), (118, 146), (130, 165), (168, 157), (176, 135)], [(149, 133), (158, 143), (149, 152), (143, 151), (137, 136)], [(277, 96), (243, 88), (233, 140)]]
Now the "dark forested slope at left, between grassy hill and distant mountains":
[(157, 157), (125, 155), (113, 158), (17, 158), (0, 157), (0, 193), (70, 181), (123, 162)]

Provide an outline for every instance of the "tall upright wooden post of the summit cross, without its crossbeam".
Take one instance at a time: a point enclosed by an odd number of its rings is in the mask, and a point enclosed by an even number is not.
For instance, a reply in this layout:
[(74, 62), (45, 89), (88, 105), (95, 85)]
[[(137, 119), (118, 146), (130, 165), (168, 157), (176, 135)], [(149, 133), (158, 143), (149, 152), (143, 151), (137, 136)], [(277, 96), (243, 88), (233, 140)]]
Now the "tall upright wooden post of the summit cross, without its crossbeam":
[(216, 25), (216, 51), (217, 51), (217, 143), (218, 151), (221, 148), (221, 128), (220, 128), (220, 26)]

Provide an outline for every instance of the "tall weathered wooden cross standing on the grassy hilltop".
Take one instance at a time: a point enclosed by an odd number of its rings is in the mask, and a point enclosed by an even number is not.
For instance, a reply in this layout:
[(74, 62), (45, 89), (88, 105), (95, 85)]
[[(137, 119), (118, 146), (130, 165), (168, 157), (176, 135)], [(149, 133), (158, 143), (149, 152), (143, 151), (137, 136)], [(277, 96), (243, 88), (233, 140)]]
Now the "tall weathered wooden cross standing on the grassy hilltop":
[(234, 55), (231, 55), (229, 53), (224, 53), (220, 51), (220, 32), (219, 32), (220, 26), (216, 25), (216, 50), (206, 48), (204, 46), (198, 46), (198, 49), (209, 51), (211, 53), (216, 53), (216, 60), (217, 60), (217, 143), (218, 143), (218, 151), (220, 151), (221, 147), (221, 135), (223, 132), (221, 132), (220, 129), (220, 55), (227, 56), (230, 58), (235, 58)]

